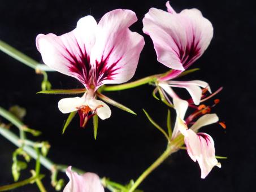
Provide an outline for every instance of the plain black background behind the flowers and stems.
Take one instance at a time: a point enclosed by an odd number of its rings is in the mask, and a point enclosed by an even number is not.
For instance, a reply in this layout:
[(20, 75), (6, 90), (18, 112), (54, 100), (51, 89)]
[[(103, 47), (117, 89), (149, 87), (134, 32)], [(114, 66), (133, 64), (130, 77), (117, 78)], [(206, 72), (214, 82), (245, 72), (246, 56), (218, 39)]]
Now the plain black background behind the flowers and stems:
[[(221, 103), (214, 108), (225, 121), (227, 129), (219, 125), (202, 128), (215, 140), (216, 155), (228, 156), (219, 160), (222, 168), (214, 168), (205, 180), (200, 178), (197, 163), (179, 151), (168, 158), (142, 184), (145, 191), (253, 191), (255, 181), (255, 14), (253, 1), (171, 1), (180, 12), (184, 8), (198, 8), (214, 26), (214, 38), (205, 54), (193, 64), (200, 71), (181, 80), (204, 80), (212, 90), (224, 86), (218, 95)], [(70, 32), (85, 15), (99, 20), (115, 8), (136, 12), (138, 22), (132, 30), (142, 33), (142, 19), (150, 7), (166, 10), (166, 1), (3, 1), (0, 6), (0, 39), (40, 61), (35, 45), (38, 33)], [(156, 60), (153, 43), (143, 34), (146, 45), (142, 51), (136, 74), (132, 80), (167, 70)], [(70, 164), (85, 171), (123, 184), (136, 179), (164, 151), (164, 137), (146, 120), (147, 112), (160, 125), (166, 125), (167, 108), (151, 96), (153, 86), (106, 93), (137, 112), (137, 116), (111, 107), (110, 119), (99, 121), (97, 141), (93, 138), (92, 124), (79, 128), (76, 117), (66, 133), (62, 126), (67, 115), (57, 107), (62, 95), (38, 95), (42, 76), (33, 69), (0, 53), (0, 105), (9, 108), (14, 104), (27, 108), (24, 123), (43, 132), (39, 140), (49, 141), (49, 158), (56, 163)], [(81, 88), (80, 82), (57, 72), (49, 73), (55, 89)], [(185, 91), (181, 91), (188, 95)], [(173, 113), (174, 116), (174, 113)], [(15, 128), (13, 128), (15, 129)], [(32, 138), (32, 137), (31, 137)], [(0, 137), (0, 185), (13, 182), (11, 176), (12, 152), (15, 146)], [(31, 167), (33, 168), (32, 161)], [(24, 171), (21, 179), (29, 174)], [(49, 191), (50, 173), (44, 184)], [(65, 174), (61, 177), (67, 178)], [(66, 180), (68, 181), (68, 180)], [(13, 191), (37, 191), (28, 185)]]

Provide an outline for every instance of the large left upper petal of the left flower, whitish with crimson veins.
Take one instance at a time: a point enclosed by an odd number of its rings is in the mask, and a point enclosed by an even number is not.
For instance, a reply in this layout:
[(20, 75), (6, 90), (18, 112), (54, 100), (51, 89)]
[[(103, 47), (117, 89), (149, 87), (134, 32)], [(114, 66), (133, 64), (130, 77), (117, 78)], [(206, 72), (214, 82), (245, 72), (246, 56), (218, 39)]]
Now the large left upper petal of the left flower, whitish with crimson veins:
[(77, 22), (70, 33), (38, 34), (36, 45), (44, 63), (56, 71), (77, 78), (84, 85), (92, 76), (90, 50), (94, 45), (97, 23), (92, 16), (85, 16)]

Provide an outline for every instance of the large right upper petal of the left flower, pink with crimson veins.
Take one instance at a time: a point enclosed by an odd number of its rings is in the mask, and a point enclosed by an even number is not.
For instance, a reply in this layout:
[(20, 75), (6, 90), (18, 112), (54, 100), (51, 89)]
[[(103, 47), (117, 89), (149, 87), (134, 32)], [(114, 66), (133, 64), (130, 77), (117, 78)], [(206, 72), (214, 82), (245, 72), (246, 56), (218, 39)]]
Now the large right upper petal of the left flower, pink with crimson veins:
[(119, 84), (133, 77), (145, 44), (140, 34), (128, 28), (136, 21), (133, 11), (121, 9), (108, 12), (99, 21), (91, 52), (97, 87)]

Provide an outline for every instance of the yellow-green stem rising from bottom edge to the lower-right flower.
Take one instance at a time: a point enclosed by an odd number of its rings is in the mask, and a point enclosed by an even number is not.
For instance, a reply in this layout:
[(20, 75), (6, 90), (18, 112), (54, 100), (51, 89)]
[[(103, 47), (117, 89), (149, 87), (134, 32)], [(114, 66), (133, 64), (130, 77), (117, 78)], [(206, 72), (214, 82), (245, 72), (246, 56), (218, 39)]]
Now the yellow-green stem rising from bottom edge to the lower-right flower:
[(142, 181), (145, 180), (145, 178), (152, 172), (154, 171), (155, 168), (157, 168), (161, 163), (163, 163), (164, 160), (168, 158), (172, 153), (172, 147), (167, 147), (166, 151), (163, 152), (161, 156), (153, 164), (150, 165), (149, 168), (144, 171), (140, 177), (137, 178), (137, 180), (134, 182), (133, 186), (131, 189), (129, 189), (129, 192), (134, 191), (137, 189), (137, 187), (141, 184)]

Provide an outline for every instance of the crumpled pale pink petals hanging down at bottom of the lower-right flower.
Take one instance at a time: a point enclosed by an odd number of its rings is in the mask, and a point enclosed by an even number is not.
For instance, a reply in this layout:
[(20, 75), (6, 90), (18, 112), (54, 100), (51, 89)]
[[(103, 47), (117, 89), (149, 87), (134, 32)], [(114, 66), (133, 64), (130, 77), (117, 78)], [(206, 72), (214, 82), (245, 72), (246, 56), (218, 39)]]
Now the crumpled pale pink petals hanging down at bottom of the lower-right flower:
[(209, 134), (196, 134), (191, 129), (187, 132), (185, 144), (188, 154), (194, 162), (197, 160), (201, 168), (201, 178), (205, 178), (215, 165), (221, 167), (215, 158), (214, 141)]

